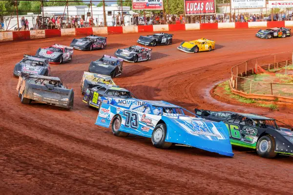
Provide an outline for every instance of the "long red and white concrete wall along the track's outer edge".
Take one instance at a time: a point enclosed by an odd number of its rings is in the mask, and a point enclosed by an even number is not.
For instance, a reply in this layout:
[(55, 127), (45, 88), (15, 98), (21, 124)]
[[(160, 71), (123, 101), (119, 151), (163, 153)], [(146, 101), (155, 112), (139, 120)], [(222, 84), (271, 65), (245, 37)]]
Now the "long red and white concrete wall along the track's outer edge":
[(164, 31), (189, 31), (189, 30), (215, 30), (230, 28), (272, 28), (293, 27), (293, 21), (258, 21), (258, 22), (223, 22), (223, 23), (195, 23), (195, 24), (164, 24), (147, 26), (108, 26), (93, 28), (69, 28), (53, 30), (32, 30), (0, 32), (0, 42), (22, 39), (41, 39), (63, 36), (84, 37), (87, 35), (110, 35), (137, 32), (164, 32)]

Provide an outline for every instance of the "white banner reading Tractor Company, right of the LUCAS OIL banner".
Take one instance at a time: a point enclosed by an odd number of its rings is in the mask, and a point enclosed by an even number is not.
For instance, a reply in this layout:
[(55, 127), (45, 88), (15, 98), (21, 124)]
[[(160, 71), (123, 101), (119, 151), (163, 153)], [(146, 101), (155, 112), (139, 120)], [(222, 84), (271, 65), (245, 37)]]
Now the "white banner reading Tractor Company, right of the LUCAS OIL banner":
[(266, 0), (231, 0), (231, 9), (265, 8)]

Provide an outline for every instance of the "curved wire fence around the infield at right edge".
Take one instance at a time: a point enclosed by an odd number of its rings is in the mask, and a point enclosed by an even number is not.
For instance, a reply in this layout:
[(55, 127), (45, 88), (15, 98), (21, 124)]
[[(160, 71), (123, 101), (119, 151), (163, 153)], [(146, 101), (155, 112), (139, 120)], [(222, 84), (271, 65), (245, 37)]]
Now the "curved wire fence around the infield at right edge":
[[(293, 69), (293, 51), (249, 59), (231, 68), (230, 86), (233, 90), (250, 95), (293, 98), (292, 83), (268, 81), (276, 77), (274, 72), (282, 70), (287, 75), (288, 69)], [(261, 81), (261, 76), (251, 79), (260, 73), (264, 73), (266, 81)], [(282, 79), (281, 76), (280, 81)]]

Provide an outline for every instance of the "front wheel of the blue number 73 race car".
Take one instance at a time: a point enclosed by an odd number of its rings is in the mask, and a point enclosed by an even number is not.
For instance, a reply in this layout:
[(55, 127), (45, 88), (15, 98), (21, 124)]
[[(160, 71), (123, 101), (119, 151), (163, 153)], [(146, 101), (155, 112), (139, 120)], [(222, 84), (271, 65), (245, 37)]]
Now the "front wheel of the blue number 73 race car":
[(167, 126), (164, 123), (158, 124), (151, 135), (151, 142), (156, 148), (169, 148), (172, 143), (166, 142)]

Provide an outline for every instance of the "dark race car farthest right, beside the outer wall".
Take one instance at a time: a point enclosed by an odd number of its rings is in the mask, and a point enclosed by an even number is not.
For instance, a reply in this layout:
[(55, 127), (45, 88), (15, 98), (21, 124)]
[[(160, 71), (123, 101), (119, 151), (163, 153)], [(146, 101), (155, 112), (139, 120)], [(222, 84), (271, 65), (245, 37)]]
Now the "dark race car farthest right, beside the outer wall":
[(269, 28), (267, 30), (259, 30), (256, 37), (261, 39), (285, 38), (290, 37), (291, 29), (289, 28)]

